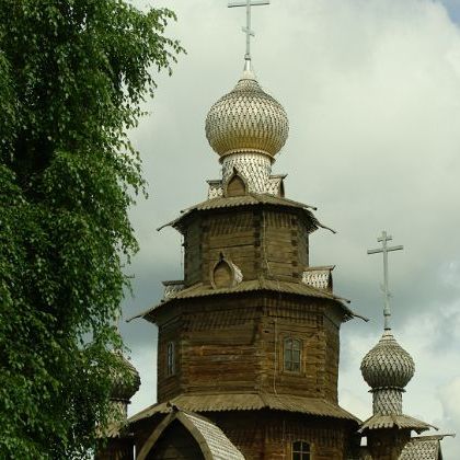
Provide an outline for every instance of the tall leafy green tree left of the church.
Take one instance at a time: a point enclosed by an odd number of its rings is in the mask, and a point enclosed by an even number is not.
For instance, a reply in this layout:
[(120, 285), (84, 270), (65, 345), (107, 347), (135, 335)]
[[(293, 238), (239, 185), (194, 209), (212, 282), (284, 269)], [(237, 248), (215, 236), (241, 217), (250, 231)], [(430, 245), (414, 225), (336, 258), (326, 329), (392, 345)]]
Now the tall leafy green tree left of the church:
[(0, 458), (83, 458), (143, 193), (126, 129), (183, 48), (166, 9), (0, 0)]

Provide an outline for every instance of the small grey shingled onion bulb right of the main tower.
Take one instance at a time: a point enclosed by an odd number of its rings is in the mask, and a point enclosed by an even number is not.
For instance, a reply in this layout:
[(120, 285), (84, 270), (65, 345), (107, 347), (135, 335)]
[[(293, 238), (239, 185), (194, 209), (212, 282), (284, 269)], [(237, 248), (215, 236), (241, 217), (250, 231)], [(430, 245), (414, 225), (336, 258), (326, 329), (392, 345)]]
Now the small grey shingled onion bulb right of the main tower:
[(386, 331), (379, 343), (364, 357), (361, 373), (372, 389), (403, 389), (414, 376), (411, 355)]

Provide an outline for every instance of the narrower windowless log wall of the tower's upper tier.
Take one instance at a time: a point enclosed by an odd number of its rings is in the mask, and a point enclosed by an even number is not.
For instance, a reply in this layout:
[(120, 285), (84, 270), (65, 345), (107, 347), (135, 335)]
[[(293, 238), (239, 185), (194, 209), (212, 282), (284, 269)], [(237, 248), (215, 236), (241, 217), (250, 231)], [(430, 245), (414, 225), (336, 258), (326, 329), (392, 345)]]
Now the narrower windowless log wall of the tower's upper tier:
[(308, 231), (299, 210), (223, 209), (202, 212), (184, 232), (185, 285), (209, 283), (220, 254), (232, 261), (244, 279), (260, 275), (298, 280), (308, 266)]

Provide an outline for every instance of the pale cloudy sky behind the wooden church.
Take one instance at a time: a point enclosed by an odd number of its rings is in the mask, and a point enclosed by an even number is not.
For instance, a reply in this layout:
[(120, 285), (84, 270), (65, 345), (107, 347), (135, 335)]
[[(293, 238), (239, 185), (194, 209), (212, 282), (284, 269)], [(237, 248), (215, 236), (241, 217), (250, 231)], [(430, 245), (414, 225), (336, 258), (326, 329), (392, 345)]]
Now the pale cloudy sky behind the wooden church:
[[(171, 78), (158, 76), (149, 115), (130, 133), (149, 198), (130, 212), (140, 251), (127, 269), (125, 318), (158, 303), (162, 280), (182, 279), (180, 234), (156, 229), (206, 199), (205, 181), (219, 179), (205, 118), (243, 67), (243, 9), (153, 5), (177, 13), (166, 34), (187, 55)], [(393, 333), (416, 366), (404, 413), (457, 432), (442, 449), (460, 458), (460, 1), (272, 0), (254, 8), (252, 26), (258, 82), (290, 124), (273, 172), (288, 173), (286, 196), (317, 206), (337, 231), (311, 235), (311, 265), (336, 265), (335, 294), (370, 319), (342, 326), (340, 403), (371, 414), (359, 365), (382, 333), (382, 261), (366, 251), (387, 230), (404, 245), (389, 255)], [(134, 414), (156, 402), (157, 329), (135, 320), (122, 333), (142, 380)]]

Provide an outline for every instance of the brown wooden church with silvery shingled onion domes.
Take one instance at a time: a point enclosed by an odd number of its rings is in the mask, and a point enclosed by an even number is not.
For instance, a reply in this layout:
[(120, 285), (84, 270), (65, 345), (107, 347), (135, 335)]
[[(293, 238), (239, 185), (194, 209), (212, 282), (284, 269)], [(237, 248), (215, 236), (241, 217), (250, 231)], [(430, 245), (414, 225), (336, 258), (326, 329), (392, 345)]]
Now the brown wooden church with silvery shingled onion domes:
[[(96, 458), (441, 459), (441, 437), (411, 438), (429, 425), (402, 413), (414, 364), (391, 330), (361, 366), (372, 417), (338, 404), (340, 329), (355, 314), (333, 291), (333, 266), (309, 264), (309, 235), (323, 227), (314, 208), (287, 198), (285, 176), (272, 174), (288, 118), (249, 49), (206, 136), (222, 175), (169, 223), (184, 238), (184, 276), (140, 315), (159, 329), (158, 402), (114, 426)], [(125, 413), (139, 387), (130, 369), (133, 386), (114, 395)]]

